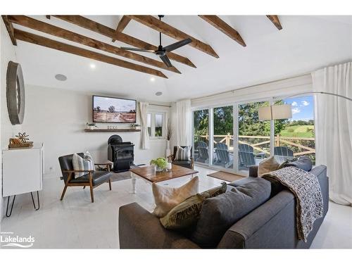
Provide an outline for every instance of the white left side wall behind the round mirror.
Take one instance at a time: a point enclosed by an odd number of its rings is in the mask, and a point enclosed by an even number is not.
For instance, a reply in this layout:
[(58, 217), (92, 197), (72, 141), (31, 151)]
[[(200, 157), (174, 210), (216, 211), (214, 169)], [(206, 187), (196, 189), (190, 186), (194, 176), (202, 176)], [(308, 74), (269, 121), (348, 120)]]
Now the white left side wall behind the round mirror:
[[(11, 125), (10, 118), (8, 118), (8, 111), (7, 111), (7, 103), (6, 103), (6, 71), (7, 65), (9, 61), (17, 61), (17, 57), (15, 54), (15, 47), (13, 46), (10, 37), (8, 37), (8, 33), (6, 27), (4, 25), (4, 21), (1, 19), (0, 22), (0, 50), (1, 50), (1, 64), (0, 64), (0, 149), (5, 149), (8, 145), (8, 139), (13, 137), (15, 134), (18, 133), (20, 130), (21, 125)], [(0, 161), (1, 158), (1, 151), (0, 151)], [(0, 213), (1, 216), (5, 215), (5, 199), (2, 198), (2, 163), (0, 162), (0, 189), (1, 189), (1, 197), (0, 197)], [(2, 217), (0, 217), (1, 222)]]

